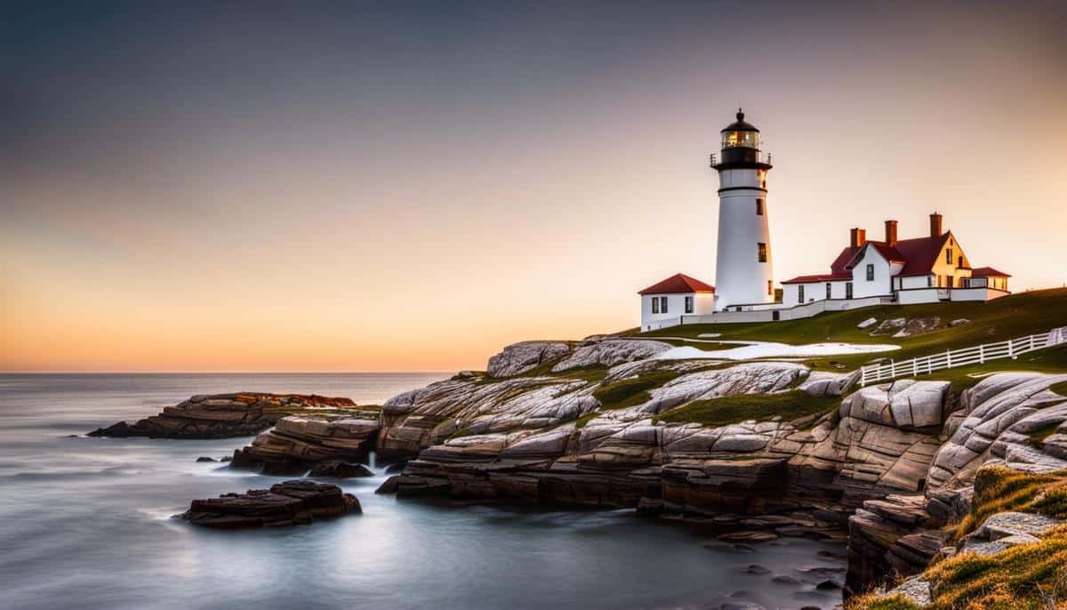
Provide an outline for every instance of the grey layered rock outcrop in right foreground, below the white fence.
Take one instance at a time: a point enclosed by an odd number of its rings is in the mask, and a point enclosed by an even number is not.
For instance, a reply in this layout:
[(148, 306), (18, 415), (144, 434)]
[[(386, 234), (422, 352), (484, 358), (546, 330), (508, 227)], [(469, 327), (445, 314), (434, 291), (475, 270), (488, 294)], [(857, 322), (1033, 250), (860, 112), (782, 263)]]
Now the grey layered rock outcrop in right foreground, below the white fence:
[[(848, 583), (862, 591), (892, 575), (922, 572), (930, 560), (955, 552), (991, 553), (1036, 539), (1003, 534), (1000, 523), (1040, 521), (1046, 517), (1000, 513), (987, 519), (957, 546), (946, 542), (945, 524), (971, 513), (975, 475), (984, 466), (1006, 466), (1024, 472), (1067, 468), (1067, 398), (1051, 390), (1067, 374), (999, 373), (965, 390), (958, 410), (946, 418), (926, 476), (923, 493), (895, 498), (892, 504), (866, 502), (849, 519)], [(997, 517), (997, 518), (994, 518)], [(1021, 527), (1021, 526), (1020, 526)], [(1018, 528), (1016, 528), (1018, 529)], [(913, 578), (892, 593), (915, 604), (929, 603), (928, 585)], [(921, 603), (920, 603), (921, 600)]]

